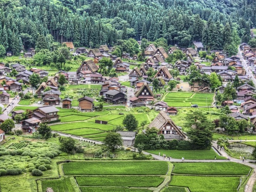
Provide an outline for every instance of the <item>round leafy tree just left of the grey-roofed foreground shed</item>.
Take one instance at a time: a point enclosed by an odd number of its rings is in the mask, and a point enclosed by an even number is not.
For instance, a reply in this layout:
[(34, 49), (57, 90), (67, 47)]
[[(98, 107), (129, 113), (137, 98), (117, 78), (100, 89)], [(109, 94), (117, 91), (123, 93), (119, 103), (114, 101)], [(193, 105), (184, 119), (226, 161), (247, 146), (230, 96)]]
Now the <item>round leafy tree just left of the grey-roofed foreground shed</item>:
[(115, 151), (117, 147), (122, 146), (123, 141), (119, 133), (110, 132), (104, 139), (104, 144), (110, 150)]

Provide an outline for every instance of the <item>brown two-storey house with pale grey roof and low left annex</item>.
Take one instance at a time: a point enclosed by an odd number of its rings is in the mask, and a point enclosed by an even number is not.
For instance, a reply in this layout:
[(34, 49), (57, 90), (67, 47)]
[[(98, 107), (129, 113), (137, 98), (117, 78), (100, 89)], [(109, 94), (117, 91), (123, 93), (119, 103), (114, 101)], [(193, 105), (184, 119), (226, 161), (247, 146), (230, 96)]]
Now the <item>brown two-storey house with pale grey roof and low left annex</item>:
[(35, 117), (41, 120), (42, 123), (56, 121), (59, 119), (58, 111), (54, 106), (41, 106), (33, 110), (29, 117)]

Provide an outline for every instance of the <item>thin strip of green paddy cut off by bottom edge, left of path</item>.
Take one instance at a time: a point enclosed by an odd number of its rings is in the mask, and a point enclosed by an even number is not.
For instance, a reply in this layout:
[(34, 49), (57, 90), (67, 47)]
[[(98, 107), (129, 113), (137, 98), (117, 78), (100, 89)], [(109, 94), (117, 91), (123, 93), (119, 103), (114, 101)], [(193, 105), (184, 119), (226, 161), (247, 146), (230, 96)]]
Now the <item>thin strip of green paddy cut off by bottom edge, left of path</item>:
[[(143, 189), (143, 188), (100, 188), (100, 187), (80, 187), (82, 192), (151, 192), (153, 190)], [(179, 191), (177, 191), (179, 192)]]

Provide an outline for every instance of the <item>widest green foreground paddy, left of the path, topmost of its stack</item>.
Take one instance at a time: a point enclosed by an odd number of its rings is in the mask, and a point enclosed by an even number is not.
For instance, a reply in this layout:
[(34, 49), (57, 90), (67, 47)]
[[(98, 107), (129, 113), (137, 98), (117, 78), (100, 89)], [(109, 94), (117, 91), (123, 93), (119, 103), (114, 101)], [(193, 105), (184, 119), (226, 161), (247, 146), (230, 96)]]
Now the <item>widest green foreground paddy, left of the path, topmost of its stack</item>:
[(165, 161), (82, 161), (64, 163), (62, 167), (66, 175), (164, 175), (168, 164)]

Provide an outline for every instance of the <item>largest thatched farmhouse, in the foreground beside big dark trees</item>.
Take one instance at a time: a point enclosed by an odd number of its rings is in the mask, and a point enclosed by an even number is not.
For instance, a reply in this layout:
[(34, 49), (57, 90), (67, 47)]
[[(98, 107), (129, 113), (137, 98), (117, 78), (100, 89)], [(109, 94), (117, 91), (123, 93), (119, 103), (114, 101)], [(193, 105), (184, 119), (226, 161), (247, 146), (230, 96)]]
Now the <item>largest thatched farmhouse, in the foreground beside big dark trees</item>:
[(148, 125), (149, 128), (156, 127), (166, 140), (183, 140), (186, 136), (181, 131), (181, 127), (177, 126), (172, 119), (163, 111)]

